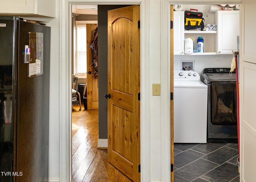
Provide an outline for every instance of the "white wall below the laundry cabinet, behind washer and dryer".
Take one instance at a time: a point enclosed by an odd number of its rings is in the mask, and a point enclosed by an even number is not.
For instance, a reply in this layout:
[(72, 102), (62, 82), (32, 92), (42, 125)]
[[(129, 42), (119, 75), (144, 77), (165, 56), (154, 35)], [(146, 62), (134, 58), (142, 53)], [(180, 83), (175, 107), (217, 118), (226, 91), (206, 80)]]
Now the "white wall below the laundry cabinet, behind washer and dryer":
[(233, 55), (175, 55), (174, 70), (181, 70), (182, 61), (194, 62), (194, 71), (199, 74), (204, 68), (219, 68), (231, 66)]

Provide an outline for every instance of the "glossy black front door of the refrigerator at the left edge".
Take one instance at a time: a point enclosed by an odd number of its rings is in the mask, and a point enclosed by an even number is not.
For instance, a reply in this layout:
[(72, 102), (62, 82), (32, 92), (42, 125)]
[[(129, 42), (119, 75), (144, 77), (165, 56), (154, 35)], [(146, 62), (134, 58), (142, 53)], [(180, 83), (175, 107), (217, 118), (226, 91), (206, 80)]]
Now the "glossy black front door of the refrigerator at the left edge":
[(0, 16), (0, 181), (10, 182), (14, 161), (14, 81), (16, 80), (16, 26), (14, 17)]

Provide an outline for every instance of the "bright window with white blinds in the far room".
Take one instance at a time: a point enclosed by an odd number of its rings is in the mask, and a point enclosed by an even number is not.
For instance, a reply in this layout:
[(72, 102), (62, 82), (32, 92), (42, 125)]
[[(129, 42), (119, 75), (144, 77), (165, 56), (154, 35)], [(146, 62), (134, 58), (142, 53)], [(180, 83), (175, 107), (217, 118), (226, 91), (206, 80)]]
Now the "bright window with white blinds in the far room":
[(86, 24), (77, 24), (76, 33), (76, 74), (86, 75)]

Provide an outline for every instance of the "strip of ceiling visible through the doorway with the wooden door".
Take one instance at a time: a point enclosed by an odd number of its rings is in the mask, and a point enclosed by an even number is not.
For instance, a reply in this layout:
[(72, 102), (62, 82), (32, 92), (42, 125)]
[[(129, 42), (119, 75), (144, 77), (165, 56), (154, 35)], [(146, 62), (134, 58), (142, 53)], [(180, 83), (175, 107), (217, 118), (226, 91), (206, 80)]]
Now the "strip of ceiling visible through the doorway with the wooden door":
[(72, 13), (74, 14), (98, 14), (97, 5), (81, 5), (76, 4), (72, 5)]

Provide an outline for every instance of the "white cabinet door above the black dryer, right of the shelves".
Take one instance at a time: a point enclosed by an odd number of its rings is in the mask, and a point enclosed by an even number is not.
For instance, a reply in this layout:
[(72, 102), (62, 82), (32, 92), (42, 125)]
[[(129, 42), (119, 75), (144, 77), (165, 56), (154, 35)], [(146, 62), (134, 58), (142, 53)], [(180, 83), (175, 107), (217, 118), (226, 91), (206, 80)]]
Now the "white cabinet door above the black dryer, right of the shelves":
[(240, 35), (239, 11), (217, 11), (218, 54), (232, 54), (237, 50), (237, 36)]

